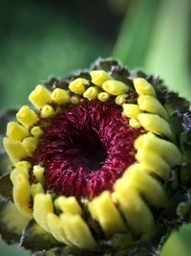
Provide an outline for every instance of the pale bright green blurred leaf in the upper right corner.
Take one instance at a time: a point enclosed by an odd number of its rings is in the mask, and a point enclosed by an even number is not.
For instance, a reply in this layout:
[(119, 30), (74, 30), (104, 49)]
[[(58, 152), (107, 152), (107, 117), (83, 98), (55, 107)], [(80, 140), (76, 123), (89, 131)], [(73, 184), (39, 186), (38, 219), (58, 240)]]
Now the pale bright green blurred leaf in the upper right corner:
[(190, 0), (163, 0), (156, 16), (143, 67), (158, 72), (169, 88), (191, 100)]

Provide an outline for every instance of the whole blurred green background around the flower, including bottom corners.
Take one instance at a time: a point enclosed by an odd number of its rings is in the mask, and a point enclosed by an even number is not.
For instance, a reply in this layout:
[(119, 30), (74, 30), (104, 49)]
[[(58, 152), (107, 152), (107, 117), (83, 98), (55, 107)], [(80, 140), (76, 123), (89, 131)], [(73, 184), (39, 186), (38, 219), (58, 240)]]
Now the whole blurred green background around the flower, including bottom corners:
[[(0, 109), (27, 103), (51, 77), (115, 57), (191, 100), (190, 0), (0, 0)], [(0, 255), (28, 255), (1, 242)], [(161, 256), (190, 256), (191, 226)]]

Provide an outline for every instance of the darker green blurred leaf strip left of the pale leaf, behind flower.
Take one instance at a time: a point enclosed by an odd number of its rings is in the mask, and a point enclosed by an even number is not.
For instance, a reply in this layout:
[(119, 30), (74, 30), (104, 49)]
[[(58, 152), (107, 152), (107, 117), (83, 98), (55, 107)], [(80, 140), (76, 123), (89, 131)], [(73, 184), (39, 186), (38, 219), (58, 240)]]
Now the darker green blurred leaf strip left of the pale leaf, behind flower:
[(128, 67), (143, 66), (150, 47), (152, 28), (159, 10), (160, 1), (134, 0), (123, 21), (117, 37), (113, 57), (118, 58)]

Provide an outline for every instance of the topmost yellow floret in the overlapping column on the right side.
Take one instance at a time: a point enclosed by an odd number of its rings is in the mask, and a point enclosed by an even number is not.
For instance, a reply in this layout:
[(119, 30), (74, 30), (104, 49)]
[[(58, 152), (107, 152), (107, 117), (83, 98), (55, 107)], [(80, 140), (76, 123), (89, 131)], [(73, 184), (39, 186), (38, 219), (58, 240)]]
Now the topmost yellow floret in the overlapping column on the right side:
[(136, 91), (138, 92), (138, 95), (156, 95), (154, 87), (149, 83), (148, 81), (137, 78), (134, 80), (134, 86), (136, 88)]

